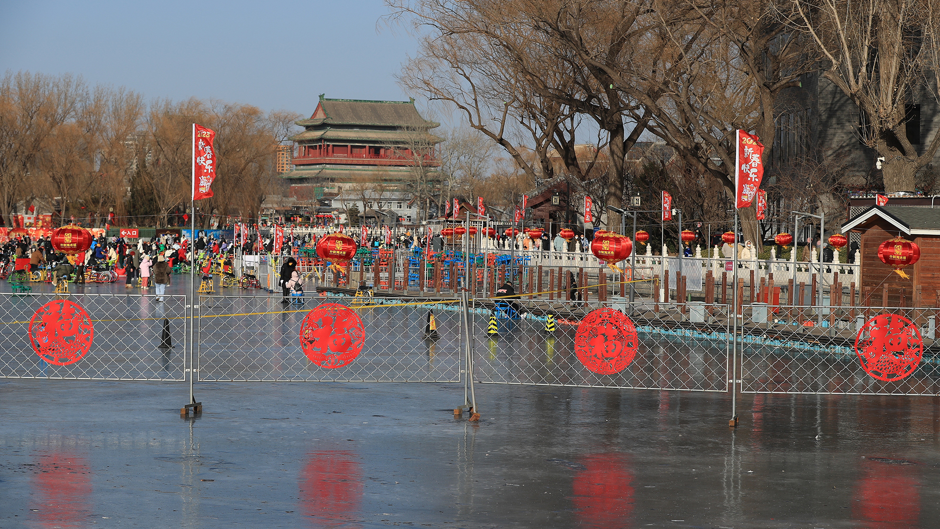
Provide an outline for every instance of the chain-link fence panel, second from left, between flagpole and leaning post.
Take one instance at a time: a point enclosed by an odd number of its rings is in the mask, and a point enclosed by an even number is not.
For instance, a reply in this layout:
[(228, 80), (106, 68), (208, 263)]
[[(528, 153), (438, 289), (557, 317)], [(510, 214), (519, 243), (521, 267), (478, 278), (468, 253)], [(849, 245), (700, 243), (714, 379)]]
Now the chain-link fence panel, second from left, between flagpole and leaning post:
[[(307, 293), (309, 294), (309, 293)], [(303, 300), (304, 302), (300, 303)], [(461, 380), (460, 318), (435, 300), (200, 297), (197, 380)], [(428, 314), (436, 328), (426, 338)]]

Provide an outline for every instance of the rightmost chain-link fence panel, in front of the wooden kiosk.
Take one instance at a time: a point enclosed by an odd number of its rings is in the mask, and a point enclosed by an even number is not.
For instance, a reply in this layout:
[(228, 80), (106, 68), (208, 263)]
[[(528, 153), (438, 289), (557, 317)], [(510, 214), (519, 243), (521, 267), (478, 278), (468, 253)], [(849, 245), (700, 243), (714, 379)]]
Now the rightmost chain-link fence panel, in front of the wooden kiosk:
[(937, 309), (746, 306), (744, 393), (940, 394)]

